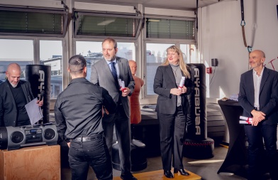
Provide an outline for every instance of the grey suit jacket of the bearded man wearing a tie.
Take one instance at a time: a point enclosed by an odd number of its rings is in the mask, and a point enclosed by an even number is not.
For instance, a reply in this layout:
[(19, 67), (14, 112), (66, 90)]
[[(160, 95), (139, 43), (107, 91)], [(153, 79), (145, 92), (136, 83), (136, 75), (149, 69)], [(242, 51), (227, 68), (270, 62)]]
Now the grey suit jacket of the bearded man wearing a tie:
[[(119, 68), (119, 76), (121, 80), (125, 82), (125, 86), (130, 89), (130, 94), (132, 94), (134, 89), (134, 80), (129, 68), (128, 60), (125, 58), (116, 57), (118, 68)], [(94, 65), (91, 66), (91, 83), (95, 85), (99, 85), (106, 90), (108, 90), (109, 95), (113, 98), (114, 102), (118, 102), (119, 98), (121, 98), (121, 103), (123, 104), (123, 108), (126, 112), (126, 116), (130, 117), (130, 109), (128, 97), (123, 97), (121, 95), (121, 91), (116, 86), (113, 75), (109, 68), (109, 65), (106, 63), (105, 59), (99, 60)], [(105, 121), (109, 116), (104, 116), (103, 120)]]

